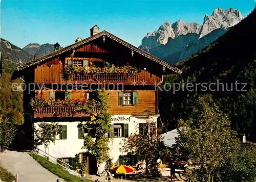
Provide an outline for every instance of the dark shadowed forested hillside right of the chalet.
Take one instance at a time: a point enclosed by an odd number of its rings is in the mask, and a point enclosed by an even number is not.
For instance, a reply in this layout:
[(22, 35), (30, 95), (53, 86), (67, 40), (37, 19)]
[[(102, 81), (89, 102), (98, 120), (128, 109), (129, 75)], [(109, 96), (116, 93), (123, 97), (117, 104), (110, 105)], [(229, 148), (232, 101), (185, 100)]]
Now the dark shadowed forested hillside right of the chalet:
[[(193, 83), (194, 88), (196, 83), (205, 83), (208, 88), (210, 83), (216, 85), (211, 84), (211, 90), (206, 91), (198, 85), (197, 91), (161, 92), (160, 114), (169, 129), (177, 127), (178, 119), (191, 116), (191, 105), (199, 96), (211, 94), (216, 105), (229, 115), (232, 128), (239, 134), (246, 134), (248, 140), (256, 141), (255, 32), (254, 9), (218, 40), (177, 64), (183, 73), (166, 77), (165, 83), (184, 83), (185, 87)], [(246, 91), (241, 91), (243, 85), (237, 85), (236, 89), (236, 81), (246, 83)], [(229, 91), (231, 86), (232, 91)]]

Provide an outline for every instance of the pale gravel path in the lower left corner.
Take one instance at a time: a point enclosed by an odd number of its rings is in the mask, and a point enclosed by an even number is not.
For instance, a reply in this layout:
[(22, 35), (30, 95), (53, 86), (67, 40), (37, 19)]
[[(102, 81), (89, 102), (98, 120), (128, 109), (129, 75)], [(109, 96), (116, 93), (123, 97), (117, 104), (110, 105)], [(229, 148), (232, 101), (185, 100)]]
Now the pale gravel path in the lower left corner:
[(28, 153), (7, 150), (0, 154), (0, 163), (14, 176), (17, 173), (19, 182), (56, 182), (59, 179), (38, 164)]

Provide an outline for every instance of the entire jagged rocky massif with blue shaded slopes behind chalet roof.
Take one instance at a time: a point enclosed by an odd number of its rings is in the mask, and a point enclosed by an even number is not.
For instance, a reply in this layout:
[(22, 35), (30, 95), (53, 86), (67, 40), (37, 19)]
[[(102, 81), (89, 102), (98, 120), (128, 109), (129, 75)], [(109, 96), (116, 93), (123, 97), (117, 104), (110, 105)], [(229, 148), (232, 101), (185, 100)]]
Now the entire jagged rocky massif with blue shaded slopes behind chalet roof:
[(236, 9), (217, 8), (211, 16), (205, 15), (202, 26), (181, 19), (172, 25), (166, 21), (153, 33), (147, 33), (139, 47), (174, 65), (218, 39), (242, 19)]

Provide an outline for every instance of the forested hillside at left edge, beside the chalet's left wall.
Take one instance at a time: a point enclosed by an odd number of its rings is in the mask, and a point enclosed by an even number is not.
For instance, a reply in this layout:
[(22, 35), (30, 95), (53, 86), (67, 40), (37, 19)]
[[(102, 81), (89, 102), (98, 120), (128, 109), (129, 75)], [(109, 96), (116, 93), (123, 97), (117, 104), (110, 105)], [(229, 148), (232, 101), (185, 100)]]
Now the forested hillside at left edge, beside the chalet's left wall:
[(2, 114), (3, 119), (7, 118), (9, 122), (22, 124), (24, 121), (23, 92), (12, 89), (13, 83), (20, 84), (22, 81), (18, 79), (11, 81), (13, 68), (17, 65), (11, 60), (3, 60), (3, 77), (0, 78), (0, 114)]

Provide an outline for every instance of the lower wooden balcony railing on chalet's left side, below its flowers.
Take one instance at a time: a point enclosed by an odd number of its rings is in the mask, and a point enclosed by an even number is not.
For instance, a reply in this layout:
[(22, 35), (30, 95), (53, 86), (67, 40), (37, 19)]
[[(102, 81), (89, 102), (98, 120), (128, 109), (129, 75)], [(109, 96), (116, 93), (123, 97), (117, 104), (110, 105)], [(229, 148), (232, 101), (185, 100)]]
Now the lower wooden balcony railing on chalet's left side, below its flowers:
[(74, 111), (80, 108), (79, 106), (49, 106), (44, 107), (39, 110), (34, 111), (35, 118), (45, 118), (45, 117), (86, 117), (87, 114), (77, 111), (74, 114)]

